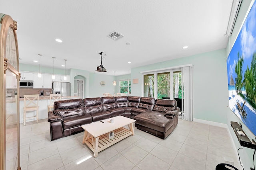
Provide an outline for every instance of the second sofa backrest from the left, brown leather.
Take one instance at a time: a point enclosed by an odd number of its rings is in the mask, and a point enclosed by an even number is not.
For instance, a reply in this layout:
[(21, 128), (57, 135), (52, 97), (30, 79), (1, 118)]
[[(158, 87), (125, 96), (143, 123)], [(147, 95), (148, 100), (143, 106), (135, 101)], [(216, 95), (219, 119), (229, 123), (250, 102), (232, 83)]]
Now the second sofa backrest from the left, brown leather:
[(101, 98), (85, 98), (84, 109), (86, 114), (89, 114), (94, 111), (102, 111), (103, 107)]

